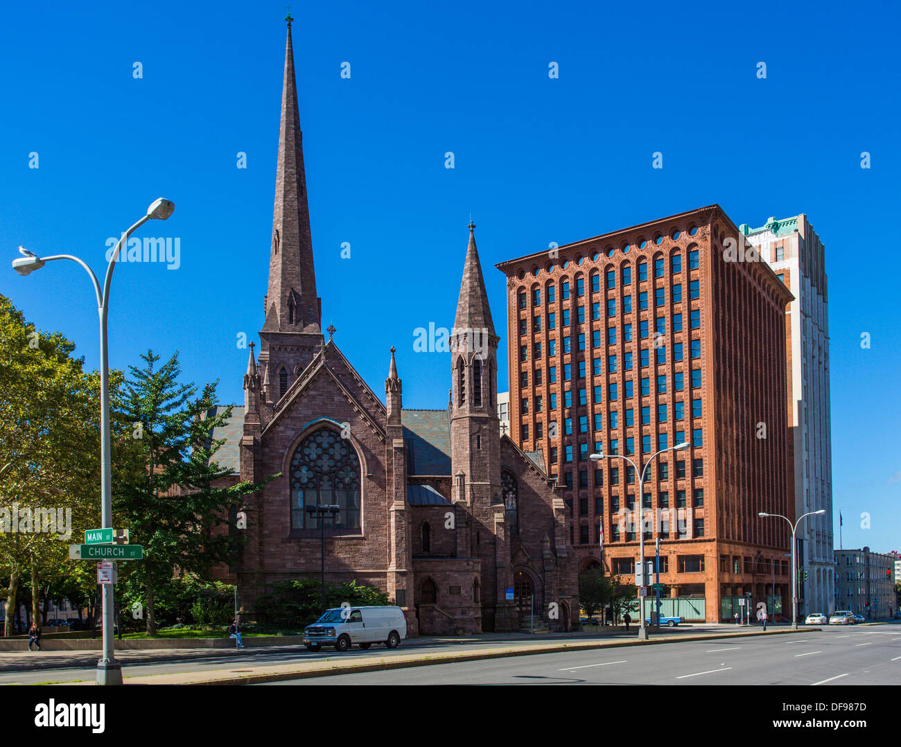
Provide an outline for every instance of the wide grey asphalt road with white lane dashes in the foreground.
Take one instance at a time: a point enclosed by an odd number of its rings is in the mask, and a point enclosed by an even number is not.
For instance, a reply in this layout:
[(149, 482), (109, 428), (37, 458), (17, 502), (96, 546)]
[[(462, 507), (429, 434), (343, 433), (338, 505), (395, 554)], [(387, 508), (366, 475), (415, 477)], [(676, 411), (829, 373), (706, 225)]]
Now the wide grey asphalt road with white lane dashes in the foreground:
[(272, 685), (896, 685), (897, 624), (610, 651), (568, 651), (403, 670), (292, 679)]

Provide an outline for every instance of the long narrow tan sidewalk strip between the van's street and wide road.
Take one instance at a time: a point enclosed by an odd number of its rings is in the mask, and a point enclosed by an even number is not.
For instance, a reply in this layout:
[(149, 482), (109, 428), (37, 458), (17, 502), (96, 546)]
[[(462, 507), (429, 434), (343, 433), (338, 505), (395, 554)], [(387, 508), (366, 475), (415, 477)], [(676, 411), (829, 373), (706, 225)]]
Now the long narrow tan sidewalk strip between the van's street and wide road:
[[(734, 625), (732, 626), (735, 627)], [(710, 632), (703, 634), (668, 634), (660, 633), (650, 641), (638, 641), (631, 634), (628, 638), (616, 638), (608, 640), (587, 640), (584, 637), (569, 636), (569, 640), (544, 640), (533, 643), (523, 642), (522, 645), (507, 646), (503, 641), (501, 645), (492, 647), (482, 646), (470, 651), (441, 652), (416, 652), (374, 653), (369, 656), (345, 659), (340, 653), (325, 659), (294, 661), (289, 664), (257, 665), (251, 662), (241, 662), (241, 669), (226, 671), (202, 671), (180, 672), (177, 674), (157, 674), (129, 677), (126, 673), (126, 685), (252, 685), (264, 682), (277, 682), (284, 679), (305, 679), (312, 677), (326, 677), (336, 674), (348, 674), (350, 672), (367, 672), (378, 670), (394, 670), (405, 667), (428, 666), (438, 663), (452, 663), (458, 661), (472, 661), (484, 659), (496, 659), (509, 656), (528, 656), (539, 653), (553, 653), (556, 651), (591, 651), (605, 648), (620, 648), (623, 646), (648, 646), (660, 645), (668, 642), (709, 641), (723, 638), (744, 638), (757, 635), (786, 635), (792, 633), (819, 632), (822, 628), (802, 628), (797, 631), (791, 628), (782, 630), (769, 629), (764, 633), (760, 628), (756, 631), (747, 627), (740, 632)], [(566, 635), (564, 633), (564, 635)], [(522, 639), (519, 639), (522, 642)], [(484, 642), (483, 642), (484, 643)], [(237, 663), (236, 663), (237, 666)], [(89, 685), (92, 682), (78, 682), (73, 684)]]

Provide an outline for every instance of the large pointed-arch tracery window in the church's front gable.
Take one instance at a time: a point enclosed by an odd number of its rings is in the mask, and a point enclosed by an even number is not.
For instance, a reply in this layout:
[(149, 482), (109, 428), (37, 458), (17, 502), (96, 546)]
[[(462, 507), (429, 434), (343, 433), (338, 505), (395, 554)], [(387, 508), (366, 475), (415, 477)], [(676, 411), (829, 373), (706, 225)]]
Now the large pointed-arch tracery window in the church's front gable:
[(359, 457), (339, 433), (320, 428), (308, 435), (291, 459), (291, 528), (318, 529), (316, 515), (307, 506), (339, 506), (334, 518), (326, 517), (325, 528), (336, 533), (359, 533)]

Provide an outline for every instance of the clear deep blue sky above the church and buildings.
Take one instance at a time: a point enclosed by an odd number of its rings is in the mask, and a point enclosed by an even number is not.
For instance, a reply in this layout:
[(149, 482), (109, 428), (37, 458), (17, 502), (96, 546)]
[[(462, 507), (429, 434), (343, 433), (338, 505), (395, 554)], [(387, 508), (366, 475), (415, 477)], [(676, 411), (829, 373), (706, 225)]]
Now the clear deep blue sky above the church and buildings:
[[(381, 395), (395, 345), (405, 406), (445, 405), (448, 356), (414, 353), (414, 329), (453, 323), (470, 214), (505, 336), (498, 261), (712, 203), (753, 226), (806, 213), (829, 274), (836, 537), (841, 509), (846, 548), (901, 550), (901, 325), (878, 268), (895, 251), (897, 11), (487, 5), (293, 9), (316, 279), (341, 350)], [(0, 28), (0, 255), (23, 243), (99, 272), (107, 238), (169, 197), (175, 214), (141, 235), (177, 237), (180, 267), (117, 267), (111, 364), (178, 350), (223, 401), (242, 402), (237, 335), (262, 325), (284, 15), (50, 2), (10, 6)], [(96, 367), (77, 266), (0, 271), (0, 292)]]

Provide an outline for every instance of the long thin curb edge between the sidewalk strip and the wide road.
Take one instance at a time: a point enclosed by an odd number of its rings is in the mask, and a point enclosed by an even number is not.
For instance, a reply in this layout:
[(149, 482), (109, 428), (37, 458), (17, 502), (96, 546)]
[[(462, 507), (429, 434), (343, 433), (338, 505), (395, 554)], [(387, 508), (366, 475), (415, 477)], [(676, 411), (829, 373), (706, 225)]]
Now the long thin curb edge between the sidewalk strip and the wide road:
[[(177, 682), (171, 684), (177, 685), (259, 685), (266, 682), (280, 682), (287, 679), (310, 679), (314, 677), (331, 677), (336, 674), (353, 674), (356, 672), (371, 672), (380, 670), (400, 670), (410, 667), (426, 667), (432, 664), (454, 664), (461, 661), (478, 661), (484, 659), (501, 659), (509, 656), (532, 656), (542, 653), (556, 653), (558, 651), (593, 651), (596, 649), (622, 648), (624, 646), (651, 646), (663, 643), (678, 643), (684, 641), (711, 641), (721, 638), (747, 638), (760, 635), (786, 635), (791, 633), (818, 633), (822, 632), (822, 628), (805, 628), (804, 630), (774, 630), (771, 633), (747, 632), (747, 633), (728, 633), (728, 634), (705, 634), (679, 636), (674, 638), (661, 638), (650, 641), (616, 641), (616, 642), (594, 642), (594, 643), (560, 643), (556, 646), (542, 646), (534, 649), (509, 649), (501, 651), (483, 651), (481, 653), (468, 653), (461, 651), (460, 653), (451, 653), (445, 655), (435, 655), (424, 657), (421, 659), (410, 660), (381, 660), (369, 664), (338, 664), (329, 669), (317, 670), (297, 670), (290, 672), (274, 672), (271, 674), (251, 674), (245, 677), (223, 677), (221, 679), (206, 679), (198, 681)], [(166, 675), (149, 675), (149, 677), (165, 677)], [(190, 676), (186, 673), (186, 676)], [(141, 678), (135, 678), (141, 679)], [(126, 678), (125, 684), (139, 685), (141, 682), (128, 682)]]

